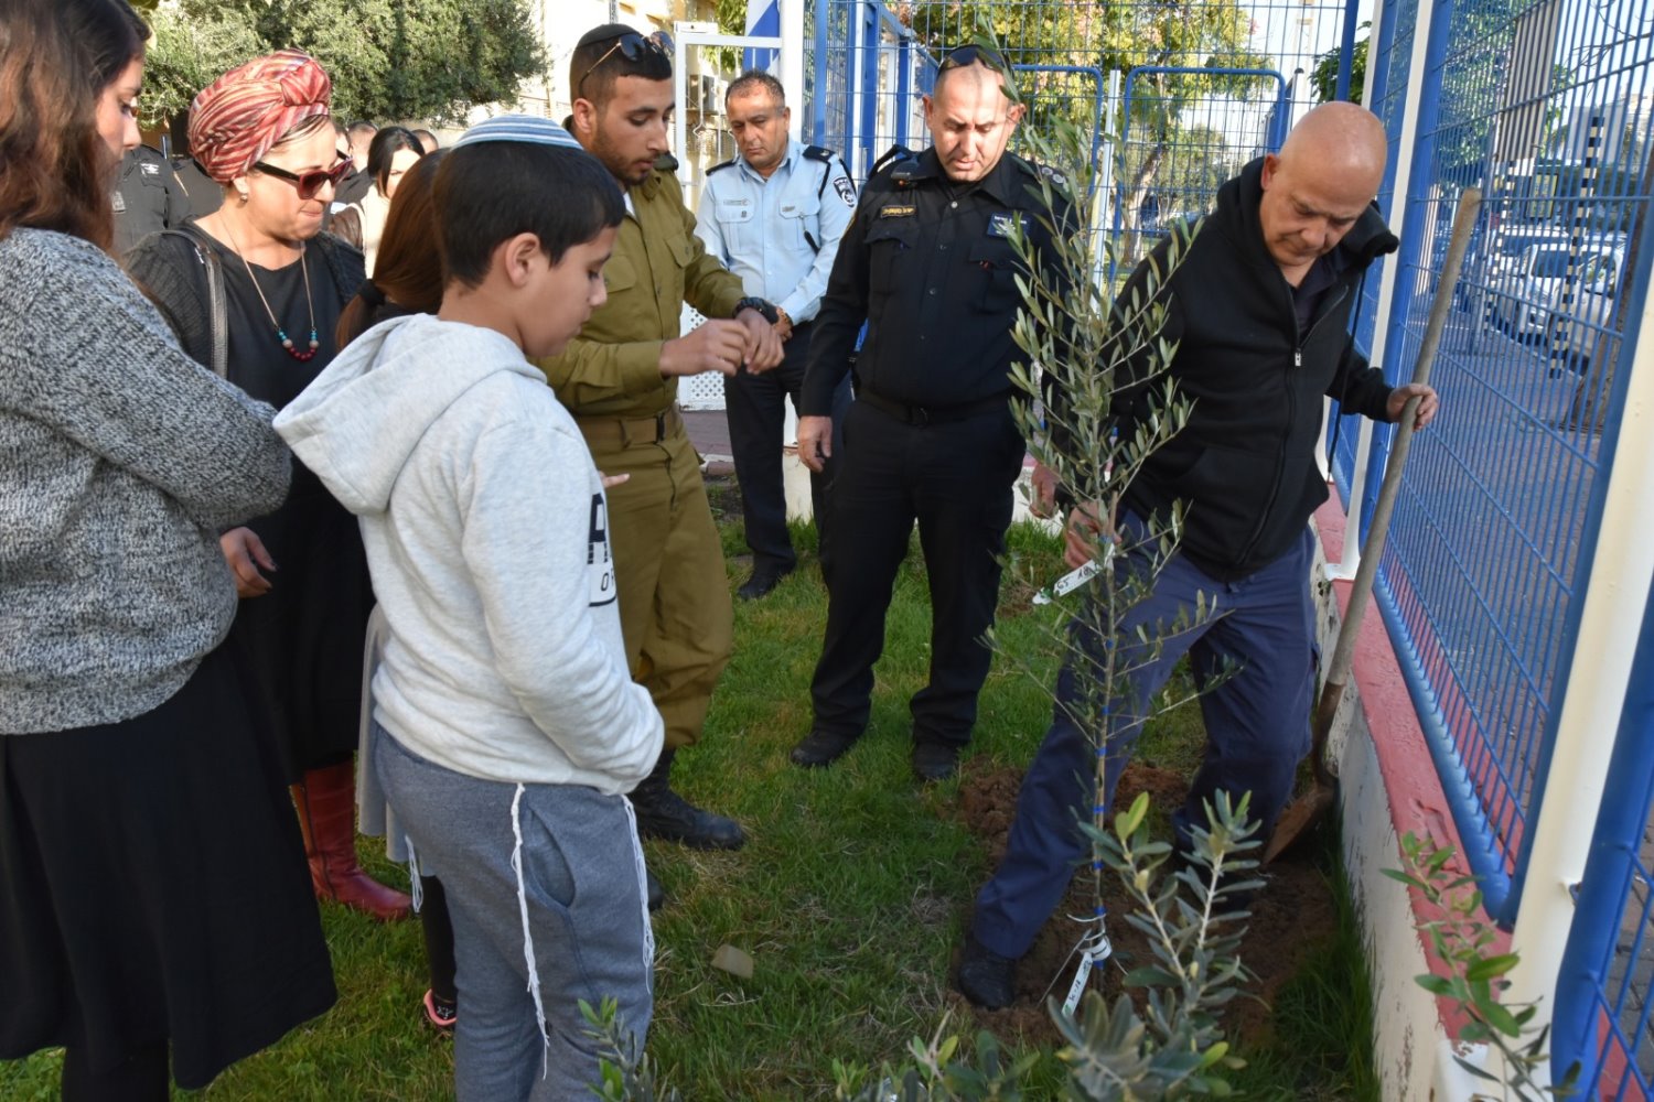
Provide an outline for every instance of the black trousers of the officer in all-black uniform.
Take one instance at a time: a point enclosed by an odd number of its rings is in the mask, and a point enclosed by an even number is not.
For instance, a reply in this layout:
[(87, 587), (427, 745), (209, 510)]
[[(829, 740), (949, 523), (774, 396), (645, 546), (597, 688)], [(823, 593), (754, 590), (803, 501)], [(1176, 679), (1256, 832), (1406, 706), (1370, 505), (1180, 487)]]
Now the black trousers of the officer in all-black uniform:
[(860, 735), (872, 712), (885, 613), (918, 520), (931, 598), (930, 684), (913, 696), (913, 740), (961, 747), (992, 653), (999, 557), (1022, 473), (1022, 435), (1004, 406), (911, 425), (867, 401), (844, 418), (834, 481), (827, 636), (810, 697), (815, 729)]

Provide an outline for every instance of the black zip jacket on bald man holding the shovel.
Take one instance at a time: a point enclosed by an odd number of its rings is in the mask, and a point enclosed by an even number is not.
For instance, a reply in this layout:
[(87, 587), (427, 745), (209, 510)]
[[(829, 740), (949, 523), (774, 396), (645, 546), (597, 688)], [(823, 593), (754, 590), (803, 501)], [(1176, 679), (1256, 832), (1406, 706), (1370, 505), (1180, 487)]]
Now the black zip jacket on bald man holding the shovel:
[[(1292, 287), (1264, 245), (1262, 165), (1254, 160), (1219, 188), (1217, 208), (1159, 289), (1168, 304), (1161, 335), (1176, 345), (1171, 377), (1194, 408), (1125, 496), (1126, 507), (1145, 517), (1188, 502), (1181, 550), (1221, 582), (1275, 562), (1327, 501), (1315, 466), (1322, 395), (1346, 413), (1383, 421), (1391, 392), (1355, 350), (1348, 325), (1363, 274), (1396, 249), (1396, 236), (1370, 207), (1338, 243), (1338, 279), (1300, 332)], [(1166, 269), (1169, 245), (1171, 238), (1131, 274), (1121, 307), (1133, 289), (1141, 292), (1150, 264)], [(1130, 425), (1150, 405), (1138, 393), (1116, 411)]]

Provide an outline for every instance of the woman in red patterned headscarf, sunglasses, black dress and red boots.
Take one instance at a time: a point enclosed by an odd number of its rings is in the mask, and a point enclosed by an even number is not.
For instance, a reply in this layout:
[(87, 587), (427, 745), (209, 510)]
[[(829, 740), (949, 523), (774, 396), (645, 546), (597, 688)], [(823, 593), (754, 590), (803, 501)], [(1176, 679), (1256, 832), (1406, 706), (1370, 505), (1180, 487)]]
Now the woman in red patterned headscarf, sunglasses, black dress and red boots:
[[(321, 233), (351, 169), (334, 147), (331, 83), (283, 50), (238, 66), (190, 104), (190, 150), (223, 205), (127, 261), (185, 352), (281, 408), (332, 360), (334, 329), (362, 283), (362, 254)], [(223, 534), (241, 606), (230, 641), (250, 659), (294, 781), (311, 879), (375, 919), (409, 897), (356, 861), (356, 727), (372, 585), (356, 519), (294, 464), (281, 509)]]

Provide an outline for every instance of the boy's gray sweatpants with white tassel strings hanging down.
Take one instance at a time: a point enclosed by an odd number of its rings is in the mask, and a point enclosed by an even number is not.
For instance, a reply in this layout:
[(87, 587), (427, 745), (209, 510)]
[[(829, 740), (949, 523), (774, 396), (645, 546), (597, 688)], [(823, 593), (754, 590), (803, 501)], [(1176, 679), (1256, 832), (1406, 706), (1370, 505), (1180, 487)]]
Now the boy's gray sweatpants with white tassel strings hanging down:
[(597, 1044), (579, 1000), (617, 1000), (638, 1051), (653, 1013), (655, 943), (625, 796), (465, 777), (374, 727), (385, 796), (448, 894), (460, 1102), (590, 1097)]

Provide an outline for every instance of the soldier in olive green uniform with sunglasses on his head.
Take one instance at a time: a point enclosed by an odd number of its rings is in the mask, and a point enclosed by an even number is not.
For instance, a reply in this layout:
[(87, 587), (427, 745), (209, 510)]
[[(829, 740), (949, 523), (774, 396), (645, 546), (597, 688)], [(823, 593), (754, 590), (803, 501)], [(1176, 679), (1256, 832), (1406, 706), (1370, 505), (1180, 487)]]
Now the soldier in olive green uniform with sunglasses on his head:
[[(769, 370), (781, 362), (776, 309), (706, 254), (667, 154), (673, 107), (670, 40), (610, 23), (587, 31), (569, 64), (567, 129), (625, 188), (627, 218), (604, 269), (609, 301), (541, 360), (605, 474), (620, 629), (632, 674), (667, 722), (667, 750), (632, 793), (638, 831), (734, 849), (739, 824), (670, 788), (678, 747), (700, 739), (713, 686), (729, 659), (733, 611), (723, 547), (700, 459), (678, 413), (678, 377)], [(688, 302), (708, 322), (680, 335)]]

